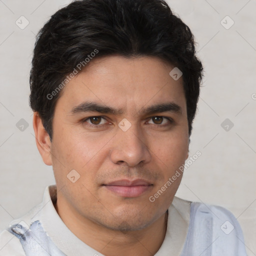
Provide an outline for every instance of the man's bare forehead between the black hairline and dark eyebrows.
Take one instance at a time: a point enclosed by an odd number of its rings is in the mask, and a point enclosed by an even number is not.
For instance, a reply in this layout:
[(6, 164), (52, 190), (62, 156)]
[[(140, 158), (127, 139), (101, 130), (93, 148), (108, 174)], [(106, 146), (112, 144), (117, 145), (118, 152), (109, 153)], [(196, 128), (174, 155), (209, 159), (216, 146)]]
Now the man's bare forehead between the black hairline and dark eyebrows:
[(173, 101), (184, 108), (182, 77), (174, 80), (169, 75), (173, 68), (157, 57), (97, 57), (67, 83), (57, 104), (70, 109), (90, 100), (126, 111)]

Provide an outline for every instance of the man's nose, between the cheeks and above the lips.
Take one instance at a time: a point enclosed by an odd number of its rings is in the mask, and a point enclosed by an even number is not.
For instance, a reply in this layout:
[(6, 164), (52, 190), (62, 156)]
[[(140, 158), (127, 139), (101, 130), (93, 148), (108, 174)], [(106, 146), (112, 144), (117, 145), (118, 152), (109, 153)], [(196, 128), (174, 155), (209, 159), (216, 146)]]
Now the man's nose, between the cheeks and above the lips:
[(118, 128), (113, 139), (110, 156), (113, 163), (122, 164), (125, 162), (132, 167), (141, 162), (147, 163), (150, 161), (151, 154), (146, 145), (147, 141), (140, 128), (135, 124), (132, 124), (126, 131)]

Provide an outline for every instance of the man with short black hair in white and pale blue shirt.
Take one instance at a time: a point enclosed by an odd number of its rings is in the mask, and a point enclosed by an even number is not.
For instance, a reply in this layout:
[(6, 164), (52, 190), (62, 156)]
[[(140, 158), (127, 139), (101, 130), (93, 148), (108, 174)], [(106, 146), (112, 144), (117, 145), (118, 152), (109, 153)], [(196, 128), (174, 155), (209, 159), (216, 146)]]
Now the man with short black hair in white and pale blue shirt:
[(246, 255), (232, 213), (174, 196), (201, 72), (164, 1), (80, 0), (53, 14), (30, 105), (56, 185), (0, 234), (0, 255)]

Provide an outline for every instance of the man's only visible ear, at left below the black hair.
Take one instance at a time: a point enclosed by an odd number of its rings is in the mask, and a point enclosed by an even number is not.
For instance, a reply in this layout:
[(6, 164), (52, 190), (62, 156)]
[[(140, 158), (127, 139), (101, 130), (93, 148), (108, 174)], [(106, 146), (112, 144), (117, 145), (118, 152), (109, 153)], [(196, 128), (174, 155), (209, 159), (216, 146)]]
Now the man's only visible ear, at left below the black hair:
[(52, 165), (50, 152), (50, 137), (42, 125), (41, 117), (37, 112), (33, 114), (33, 128), (35, 135), (35, 142), (42, 160), (47, 165)]

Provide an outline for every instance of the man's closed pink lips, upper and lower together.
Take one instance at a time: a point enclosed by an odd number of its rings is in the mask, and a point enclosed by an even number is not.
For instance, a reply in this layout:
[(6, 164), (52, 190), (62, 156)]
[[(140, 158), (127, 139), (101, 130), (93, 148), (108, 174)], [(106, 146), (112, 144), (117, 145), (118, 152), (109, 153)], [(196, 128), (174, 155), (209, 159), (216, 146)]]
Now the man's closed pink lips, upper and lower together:
[(120, 179), (108, 182), (104, 186), (121, 197), (137, 197), (152, 187), (152, 183), (144, 179)]

